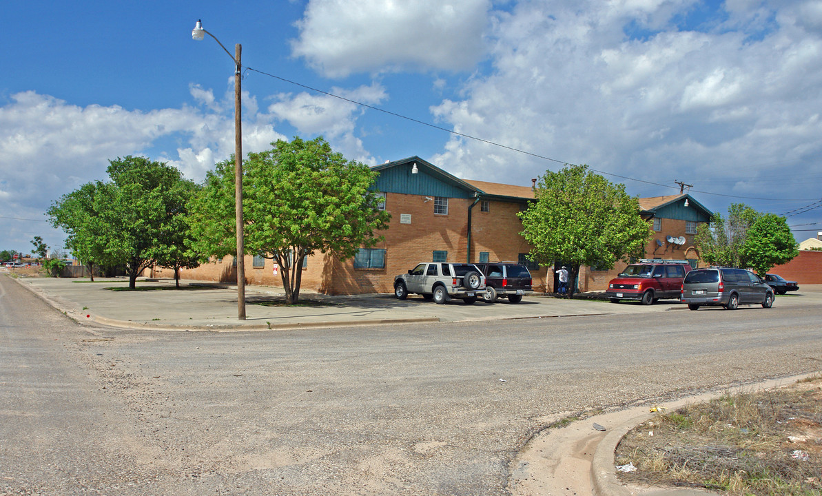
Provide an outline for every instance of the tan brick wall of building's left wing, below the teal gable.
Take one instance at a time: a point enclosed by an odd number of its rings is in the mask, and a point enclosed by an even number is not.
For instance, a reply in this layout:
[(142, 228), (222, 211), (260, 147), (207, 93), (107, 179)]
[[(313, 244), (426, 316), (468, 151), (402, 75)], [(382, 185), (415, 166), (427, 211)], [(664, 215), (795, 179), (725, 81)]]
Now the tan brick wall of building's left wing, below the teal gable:
[[(430, 197), (429, 197), (430, 198)], [(450, 198), (448, 214), (434, 214), (434, 201), (424, 195), (386, 194), (386, 210), (391, 214), (389, 228), (378, 232), (385, 237), (375, 248), (386, 249), (385, 269), (354, 269), (353, 259), (339, 261), (320, 252), (309, 256), (307, 269), (302, 271), (302, 287), (330, 295), (394, 292), (394, 277), (413, 269), (418, 263), (430, 262), (434, 250), (448, 252), (447, 261), (463, 263), (468, 256), (468, 209), (473, 199)], [(519, 204), (491, 202), (489, 212), (481, 212), (480, 204), (472, 210), (471, 261), (479, 261), (481, 251), (494, 260), (517, 260), (528, 253), (530, 246), (520, 237), (522, 223), (516, 217)], [(410, 223), (402, 223), (403, 214)], [(255, 268), (252, 256), (246, 256), (246, 282), (262, 286), (282, 287), (279, 276), (272, 273), (273, 261)], [(237, 281), (231, 256), (197, 269), (181, 271), (181, 278), (232, 283)], [(547, 268), (532, 271), (535, 289), (545, 287)], [(170, 269), (155, 269), (152, 277), (173, 278)]]

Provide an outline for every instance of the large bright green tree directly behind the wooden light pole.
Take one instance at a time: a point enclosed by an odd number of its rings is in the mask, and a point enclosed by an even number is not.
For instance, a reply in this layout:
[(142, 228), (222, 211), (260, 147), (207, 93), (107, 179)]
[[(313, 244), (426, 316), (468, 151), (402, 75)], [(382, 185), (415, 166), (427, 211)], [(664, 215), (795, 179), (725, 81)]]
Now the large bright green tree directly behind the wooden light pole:
[[(302, 264), (319, 250), (349, 259), (381, 237), (390, 214), (377, 209), (376, 172), (335, 153), (322, 137), (278, 140), (249, 154), (242, 212), (247, 254), (279, 264), (286, 300), (299, 300)], [(233, 158), (218, 163), (192, 207), (192, 246), (222, 257), (236, 251)], [(245, 254), (240, 254), (240, 256)]]

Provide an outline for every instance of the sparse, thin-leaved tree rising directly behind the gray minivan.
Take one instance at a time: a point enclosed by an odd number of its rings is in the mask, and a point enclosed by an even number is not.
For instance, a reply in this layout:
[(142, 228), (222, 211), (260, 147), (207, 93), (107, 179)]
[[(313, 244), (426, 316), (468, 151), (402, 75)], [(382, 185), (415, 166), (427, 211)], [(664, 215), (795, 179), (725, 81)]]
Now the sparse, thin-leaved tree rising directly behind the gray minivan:
[(731, 204), (727, 219), (713, 214), (709, 224), (700, 224), (694, 237), (700, 258), (712, 265), (745, 267), (741, 250), (750, 226), (759, 217), (760, 213), (746, 204)]

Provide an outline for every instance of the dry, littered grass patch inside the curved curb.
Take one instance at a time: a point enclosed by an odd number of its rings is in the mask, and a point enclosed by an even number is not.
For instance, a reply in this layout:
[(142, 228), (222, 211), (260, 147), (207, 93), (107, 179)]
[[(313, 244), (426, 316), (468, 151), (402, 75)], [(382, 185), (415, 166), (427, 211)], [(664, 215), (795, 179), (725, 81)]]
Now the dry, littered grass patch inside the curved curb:
[(638, 485), (734, 496), (822, 493), (822, 377), (758, 393), (724, 394), (654, 416), (622, 439), (617, 465)]

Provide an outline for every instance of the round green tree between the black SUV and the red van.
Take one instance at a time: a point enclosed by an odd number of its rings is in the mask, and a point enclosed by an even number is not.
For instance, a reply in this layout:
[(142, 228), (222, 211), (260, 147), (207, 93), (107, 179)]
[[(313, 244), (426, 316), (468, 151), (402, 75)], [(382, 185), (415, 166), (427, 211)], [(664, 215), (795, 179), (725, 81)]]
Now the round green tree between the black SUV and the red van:
[(520, 212), (529, 257), (569, 264), (570, 296), (581, 265), (612, 269), (618, 259), (644, 254), (651, 235), (640, 204), (625, 186), (571, 165), (539, 178), (537, 201)]

